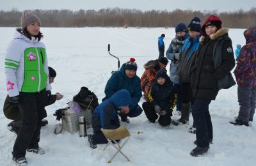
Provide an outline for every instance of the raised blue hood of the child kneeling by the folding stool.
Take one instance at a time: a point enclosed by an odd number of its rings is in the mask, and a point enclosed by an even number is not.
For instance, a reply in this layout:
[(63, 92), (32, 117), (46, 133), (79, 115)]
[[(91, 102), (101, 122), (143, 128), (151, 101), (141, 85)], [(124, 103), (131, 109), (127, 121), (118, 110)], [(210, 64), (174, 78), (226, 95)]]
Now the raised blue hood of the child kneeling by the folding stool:
[(121, 89), (110, 97), (110, 101), (115, 105), (116, 109), (122, 106), (128, 106), (132, 102), (131, 94), (126, 89)]

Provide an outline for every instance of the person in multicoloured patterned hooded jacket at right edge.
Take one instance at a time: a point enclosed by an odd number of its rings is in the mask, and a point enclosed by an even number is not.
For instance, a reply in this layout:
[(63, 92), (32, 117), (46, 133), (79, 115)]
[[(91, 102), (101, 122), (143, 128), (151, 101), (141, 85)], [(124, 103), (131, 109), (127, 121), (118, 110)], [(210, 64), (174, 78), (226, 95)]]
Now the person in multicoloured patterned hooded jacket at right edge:
[(235, 121), (230, 122), (238, 126), (249, 126), (248, 122), (253, 121), (256, 107), (256, 26), (246, 29), (244, 37), (246, 45), (239, 53), (234, 71), (240, 108)]

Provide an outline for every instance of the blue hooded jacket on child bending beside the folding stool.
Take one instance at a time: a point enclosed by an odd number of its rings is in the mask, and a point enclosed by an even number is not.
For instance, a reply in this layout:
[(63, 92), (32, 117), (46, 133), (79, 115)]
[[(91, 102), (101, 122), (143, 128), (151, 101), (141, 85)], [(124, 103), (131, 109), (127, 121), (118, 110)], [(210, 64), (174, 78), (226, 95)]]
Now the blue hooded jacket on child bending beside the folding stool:
[(100, 128), (116, 129), (120, 126), (117, 109), (131, 103), (129, 91), (122, 89), (100, 103), (93, 112), (93, 130), (97, 132)]

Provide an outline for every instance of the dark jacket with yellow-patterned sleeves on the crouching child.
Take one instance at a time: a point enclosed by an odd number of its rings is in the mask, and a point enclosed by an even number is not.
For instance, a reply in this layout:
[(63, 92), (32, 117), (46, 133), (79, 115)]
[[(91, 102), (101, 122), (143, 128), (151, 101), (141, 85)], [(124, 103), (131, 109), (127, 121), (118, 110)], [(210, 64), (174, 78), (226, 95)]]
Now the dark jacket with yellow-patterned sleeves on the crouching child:
[(157, 80), (152, 84), (148, 98), (151, 103), (159, 105), (162, 110), (172, 111), (177, 103), (176, 91), (173, 82), (167, 74), (164, 79), (165, 82), (163, 85), (158, 84)]

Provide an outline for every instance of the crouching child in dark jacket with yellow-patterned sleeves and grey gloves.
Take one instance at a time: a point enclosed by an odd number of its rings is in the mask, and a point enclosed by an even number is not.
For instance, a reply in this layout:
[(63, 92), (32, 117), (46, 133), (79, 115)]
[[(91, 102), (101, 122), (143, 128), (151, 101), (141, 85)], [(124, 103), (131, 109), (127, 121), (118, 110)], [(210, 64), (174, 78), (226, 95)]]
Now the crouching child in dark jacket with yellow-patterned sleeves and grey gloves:
[(164, 69), (156, 73), (156, 81), (148, 93), (149, 102), (142, 104), (148, 120), (155, 123), (156, 119), (161, 126), (168, 126), (171, 123), (172, 110), (176, 105), (177, 94), (173, 82)]

